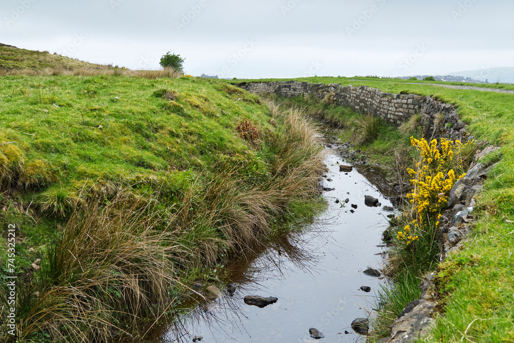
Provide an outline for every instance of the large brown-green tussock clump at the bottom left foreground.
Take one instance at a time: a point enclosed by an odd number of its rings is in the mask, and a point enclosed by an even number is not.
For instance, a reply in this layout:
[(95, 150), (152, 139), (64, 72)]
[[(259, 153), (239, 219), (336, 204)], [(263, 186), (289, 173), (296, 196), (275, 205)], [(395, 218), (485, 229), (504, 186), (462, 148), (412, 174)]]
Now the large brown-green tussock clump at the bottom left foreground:
[[(46, 332), (52, 340), (106, 341), (119, 320), (157, 318), (179, 285), (177, 244), (169, 215), (148, 199), (125, 197), (76, 212), (48, 251), (37, 298), (25, 303), (23, 339)], [(171, 292), (170, 292), (171, 290)]]

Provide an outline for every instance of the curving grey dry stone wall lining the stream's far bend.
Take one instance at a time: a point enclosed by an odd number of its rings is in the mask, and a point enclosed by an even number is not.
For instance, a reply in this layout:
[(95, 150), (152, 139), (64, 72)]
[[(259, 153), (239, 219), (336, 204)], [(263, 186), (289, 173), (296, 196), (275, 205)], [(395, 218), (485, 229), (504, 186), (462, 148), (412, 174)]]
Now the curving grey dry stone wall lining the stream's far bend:
[(352, 107), (356, 112), (382, 118), (394, 126), (421, 114), (421, 127), (425, 137), (446, 137), (466, 141), (470, 139), (465, 124), (458, 119), (455, 107), (416, 94), (384, 93), (367, 86), (343, 86), (298, 81), (273, 81), (241, 83), (238, 86), (254, 94), (276, 94), (293, 98), (312, 95), (318, 100), (329, 97), (341, 106)]

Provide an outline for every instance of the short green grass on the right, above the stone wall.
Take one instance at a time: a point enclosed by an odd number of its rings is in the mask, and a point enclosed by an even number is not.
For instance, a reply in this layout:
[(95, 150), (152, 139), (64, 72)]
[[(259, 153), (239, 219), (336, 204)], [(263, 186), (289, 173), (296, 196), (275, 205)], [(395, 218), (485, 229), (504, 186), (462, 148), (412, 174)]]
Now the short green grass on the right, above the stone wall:
[(440, 268), (441, 276), (447, 281), (442, 290), (445, 315), (438, 318), (437, 327), (426, 341), (452, 342), (465, 338), (476, 342), (514, 341), (514, 259), (511, 256), (514, 224), (510, 222), (514, 220), (514, 95), (445, 89), (423, 82), (365, 79), (299, 81), (365, 85), (384, 92), (433, 96), (457, 106), (475, 140), (502, 146), (499, 153), (488, 157), (500, 162), (484, 184), (475, 212), (478, 220), (466, 243), (467, 249), (449, 256)]

